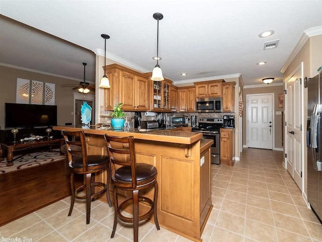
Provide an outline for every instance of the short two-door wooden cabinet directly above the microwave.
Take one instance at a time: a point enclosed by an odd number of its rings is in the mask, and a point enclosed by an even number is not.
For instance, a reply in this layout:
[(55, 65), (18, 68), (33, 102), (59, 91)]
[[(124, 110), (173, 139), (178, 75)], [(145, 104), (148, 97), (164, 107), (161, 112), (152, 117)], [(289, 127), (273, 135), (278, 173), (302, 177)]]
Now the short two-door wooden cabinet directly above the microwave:
[(206, 81), (194, 83), (196, 98), (221, 97), (222, 82), (224, 80)]

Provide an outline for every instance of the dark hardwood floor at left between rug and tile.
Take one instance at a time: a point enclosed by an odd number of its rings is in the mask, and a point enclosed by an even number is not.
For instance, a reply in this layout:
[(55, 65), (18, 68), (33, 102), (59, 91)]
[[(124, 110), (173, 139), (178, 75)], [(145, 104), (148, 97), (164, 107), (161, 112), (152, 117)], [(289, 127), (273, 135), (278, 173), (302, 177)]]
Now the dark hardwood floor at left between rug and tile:
[(65, 160), (0, 175), (0, 226), (70, 196)]

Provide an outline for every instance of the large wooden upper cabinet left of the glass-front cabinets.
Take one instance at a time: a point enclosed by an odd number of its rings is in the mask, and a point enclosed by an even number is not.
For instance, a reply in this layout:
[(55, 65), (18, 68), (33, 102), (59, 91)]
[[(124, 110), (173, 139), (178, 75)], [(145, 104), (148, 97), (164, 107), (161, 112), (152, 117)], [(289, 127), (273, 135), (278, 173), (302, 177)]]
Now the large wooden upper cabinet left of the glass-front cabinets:
[(108, 110), (113, 110), (113, 106), (120, 102), (123, 102), (122, 108), (125, 111), (149, 110), (147, 76), (118, 64), (106, 66), (106, 74), (109, 79), (111, 77), (111, 88), (104, 93)]

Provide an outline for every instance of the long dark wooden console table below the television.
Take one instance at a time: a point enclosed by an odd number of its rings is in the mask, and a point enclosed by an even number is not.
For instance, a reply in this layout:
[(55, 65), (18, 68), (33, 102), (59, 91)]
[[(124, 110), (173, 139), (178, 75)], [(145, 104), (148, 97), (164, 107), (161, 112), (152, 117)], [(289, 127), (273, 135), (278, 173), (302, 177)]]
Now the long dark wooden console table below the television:
[(5, 150), (7, 150), (7, 166), (12, 166), (14, 159), (14, 151), (21, 151), (26, 149), (32, 149), (37, 147), (48, 146), (49, 150), (52, 149), (54, 145), (62, 146), (64, 143), (64, 139), (48, 139), (43, 138), (41, 140), (32, 140), (32, 141), (24, 141), (24, 142), (1, 142), (0, 143), (0, 160), (4, 160), (3, 155), (5, 154)]

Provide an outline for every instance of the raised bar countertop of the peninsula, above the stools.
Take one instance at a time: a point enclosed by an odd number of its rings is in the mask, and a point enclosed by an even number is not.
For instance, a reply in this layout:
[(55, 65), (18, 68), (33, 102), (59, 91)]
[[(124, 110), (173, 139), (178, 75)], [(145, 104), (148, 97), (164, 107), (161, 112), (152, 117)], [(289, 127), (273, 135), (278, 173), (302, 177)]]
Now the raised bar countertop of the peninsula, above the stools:
[(202, 139), (201, 133), (196, 132), (183, 132), (174, 130), (146, 130), (144, 132), (135, 129), (133, 132), (124, 132), (122, 130), (115, 131), (110, 128), (101, 128), (99, 126), (82, 127), (82, 126), (54, 126), (53, 130), (66, 130), (66, 131), (80, 131), (83, 130), (85, 134), (103, 135), (108, 134), (111, 136), (133, 136), (135, 139), (178, 143), (178, 144), (193, 144)]

